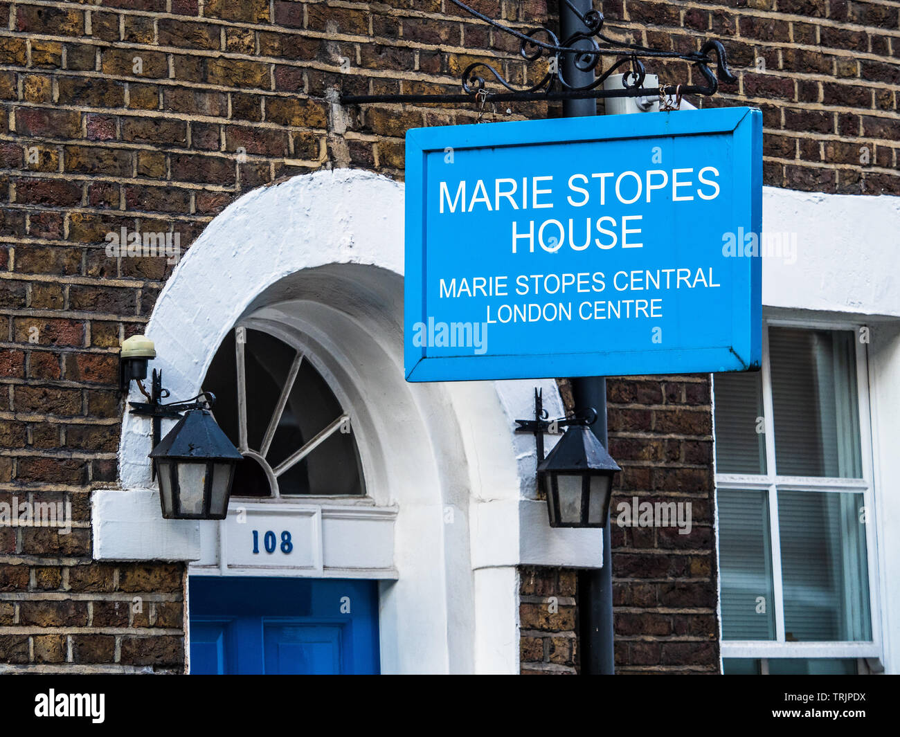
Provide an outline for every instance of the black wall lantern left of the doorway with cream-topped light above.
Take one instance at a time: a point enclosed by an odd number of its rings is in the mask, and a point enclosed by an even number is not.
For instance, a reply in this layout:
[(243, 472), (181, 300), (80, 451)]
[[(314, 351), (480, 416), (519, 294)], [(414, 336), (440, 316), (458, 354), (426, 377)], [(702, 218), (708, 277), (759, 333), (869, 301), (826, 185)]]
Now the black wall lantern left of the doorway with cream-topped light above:
[[(130, 346), (129, 341), (133, 341)], [(139, 355), (133, 355), (134, 349), (139, 350)], [(129, 338), (122, 344), (120, 375), (122, 391), (128, 391), (134, 379), (147, 399), (129, 404), (132, 414), (152, 419), (153, 449), (149, 457), (153, 463), (153, 476), (159, 480), (163, 517), (224, 519), (228, 514), (235, 466), (243, 456), (212, 417), (210, 408), (216, 398), (211, 392), (204, 391), (190, 400), (163, 404), (169, 391), (162, 388), (162, 372), (156, 369), (153, 370), (150, 392), (144, 389), (140, 379), (147, 376), (148, 358), (155, 356), (152, 341), (143, 336)], [(178, 419), (178, 422), (160, 441), (163, 418)]]

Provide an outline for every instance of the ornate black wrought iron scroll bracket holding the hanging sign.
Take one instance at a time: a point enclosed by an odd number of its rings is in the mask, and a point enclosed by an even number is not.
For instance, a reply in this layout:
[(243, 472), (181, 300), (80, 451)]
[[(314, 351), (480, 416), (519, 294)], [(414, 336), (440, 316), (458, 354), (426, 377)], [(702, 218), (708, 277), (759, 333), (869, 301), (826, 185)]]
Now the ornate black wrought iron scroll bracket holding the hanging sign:
[[(561, 0), (584, 24), (585, 31), (572, 34), (562, 41), (547, 28), (518, 31), (487, 15), (479, 13), (462, 0), (450, 0), (466, 13), (488, 23), (493, 28), (515, 37), (519, 41), (519, 54), (527, 63), (533, 64), (545, 58), (547, 69), (535, 84), (521, 87), (513, 85), (500, 71), (487, 62), (476, 62), (465, 67), (462, 77), (461, 94), (342, 94), (341, 102), (359, 103), (471, 103), (481, 99), (482, 103), (534, 102), (565, 100), (572, 98), (601, 97), (654, 97), (659, 95), (703, 94), (713, 95), (719, 82), (737, 81), (728, 69), (725, 47), (715, 39), (706, 40), (698, 51), (662, 51), (637, 43), (626, 43), (609, 38), (603, 33), (603, 13), (590, 10), (579, 12), (569, 0)], [(615, 57), (604, 67), (604, 58)], [(693, 64), (705, 85), (660, 85), (644, 87), (646, 69), (642, 59), (680, 59)], [(579, 71), (594, 71), (596, 76), (588, 85), (573, 85), (565, 77), (566, 62)], [(716, 73), (710, 68), (716, 67)], [(621, 89), (603, 89), (603, 83), (613, 74), (624, 74)], [(490, 80), (486, 81), (485, 76)], [(492, 78), (491, 78), (492, 76)], [(497, 90), (488, 85), (500, 85)]]

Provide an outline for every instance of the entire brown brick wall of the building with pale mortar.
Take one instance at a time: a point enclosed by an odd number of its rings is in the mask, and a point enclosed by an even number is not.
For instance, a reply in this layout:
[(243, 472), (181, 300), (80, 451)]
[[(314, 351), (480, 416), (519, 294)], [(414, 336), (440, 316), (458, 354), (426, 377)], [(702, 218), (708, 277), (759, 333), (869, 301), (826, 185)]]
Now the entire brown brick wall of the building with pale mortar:
[[(545, 20), (545, 0), (473, 3), (522, 27)], [(603, 4), (614, 36), (678, 49), (707, 32), (725, 41), (741, 82), (714, 104), (762, 108), (767, 184), (895, 194), (898, 7)], [(142, 329), (172, 268), (107, 256), (105, 234), (172, 232), (187, 247), (240, 193), (282, 176), (357, 166), (401, 177), (405, 130), (471, 122), (474, 105), (341, 108), (333, 89), (455, 92), (475, 58), (514, 81), (536, 74), (446, 0), (0, 3), (0, 501), (69, 500), (76, 520), (70, 535), (0, 526), (0, 663), (170, 670), (183, 657), (183, 569), (90, 562), (89, 494), (117, 476), (118, 345)], [(558, 113), (518, 104), (511, 117)], [(693, 499), (697, 520), (712, 493), (706, 380), (609, 391), (622, 493)], [(697, 547), (614, 538), (621, 670), (716, 661), (711, 531), (687, 537)], [(523, 571), (523, 617), (545, 589), (577, 597), (569, 573), (536, 576), (540, 591)], [(123, 616), (134, 596), (142, 612)], [(571, 639), (562, 620), (536, 625)], [(546, 638), (527, 638), (526, 670), (575, 667), (554, 637), (532, 661), (532, 641)]]

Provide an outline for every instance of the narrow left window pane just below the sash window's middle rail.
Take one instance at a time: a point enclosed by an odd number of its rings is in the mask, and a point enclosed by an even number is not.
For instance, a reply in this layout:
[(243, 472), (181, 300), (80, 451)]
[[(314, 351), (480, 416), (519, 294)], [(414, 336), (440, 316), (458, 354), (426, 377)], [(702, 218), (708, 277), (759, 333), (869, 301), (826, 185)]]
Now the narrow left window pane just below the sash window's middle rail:
[(725, 640), (774, 640), (775, 598), (765, 491), (719, 490), (719, 565)]

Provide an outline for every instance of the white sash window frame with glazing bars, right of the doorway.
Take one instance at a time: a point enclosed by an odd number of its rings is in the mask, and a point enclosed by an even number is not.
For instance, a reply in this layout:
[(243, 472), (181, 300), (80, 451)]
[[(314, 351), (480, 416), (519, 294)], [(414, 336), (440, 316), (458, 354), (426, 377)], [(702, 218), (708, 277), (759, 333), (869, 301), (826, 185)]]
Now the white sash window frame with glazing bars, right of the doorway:
[[(860, 408), (861, 479), (832, 479), (824, 477), (779, 476), (775, 458), (775, 415), (772, 404), (771, 368), (769, 355), (769, 328), (802, 328), (825, 330), (851, 330), (857, 336), (856, 346), (857, 391)], [(764, 319), (762, 329), (762, 398), (766, 442), (766, 473), (736, 474), (716, 472), (718, 490), (761, 490), (767, 492), (770, 517), (770, 546), (772, 557), (772, 589), (775, 607), (775, 640), (725, 640), (720, 636), (721, 658), (753, 658), (763, 661), (762, 672), (768, 671), (766, 659), (770, 658), (840, 658), (883, 659), (881, 635), (881, 608), (878, 597), (878, 538), (875, 517), (875, 488), (873, 477), (872, 425), (869, 409), (869, 368), (865, 343), (860, 342), (863, 324), (853, 321), (815, 319)], [(715, 407), (715, 374), (713, 377), (713, 402)], [(715, 416), (715, 413), (714, 413)], [(713, 429), (715, 445), (715, 423)], [(715, 447), (714, 447), (715, 459)], [(715, 463), (715, 461), (714, 461)], [(779, 509), (777, 490), (853, 491), (862, 493), (866, 515), (866, 553), (869, 568), (869, 612), (872, 640), (869, 642), (803, 642), (788, 643), (785, 640), (784, 592), (781, 581), (781, 551), (779, 536)], [(716, 515), (718, 512), (716, 511)], [(718, 536), (716, 537), (718, 545)], [(721, 595), (721, 576), (719, 577)], [(721, 622), (721, 604), (719, 607)], [(860, 669), (860, 673), (865, 672)]]

